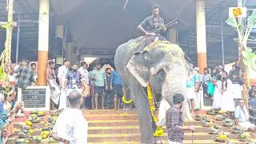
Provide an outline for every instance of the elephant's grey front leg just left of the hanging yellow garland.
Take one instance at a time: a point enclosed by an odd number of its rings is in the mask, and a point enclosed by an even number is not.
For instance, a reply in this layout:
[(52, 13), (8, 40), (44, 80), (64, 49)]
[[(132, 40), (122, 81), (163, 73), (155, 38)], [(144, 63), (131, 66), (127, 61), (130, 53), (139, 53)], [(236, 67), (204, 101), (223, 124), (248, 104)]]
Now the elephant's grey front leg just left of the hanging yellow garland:
[(154, 143), (154, 131), (152, 128), (150, 106), (146, 95), (142, 91), (142, 86), (139, 83), (131, 85), (130, 93), (134, 98), (134, 104), (138, 110), (141, 143)]

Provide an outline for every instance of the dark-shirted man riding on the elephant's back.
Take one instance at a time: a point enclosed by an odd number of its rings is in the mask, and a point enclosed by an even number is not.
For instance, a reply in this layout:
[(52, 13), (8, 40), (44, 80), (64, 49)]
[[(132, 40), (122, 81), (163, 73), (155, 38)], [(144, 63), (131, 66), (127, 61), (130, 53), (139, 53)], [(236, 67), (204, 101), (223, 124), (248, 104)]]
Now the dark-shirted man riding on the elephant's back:
[(166, 26), (163, 19), (159, 16), (159, 12), (159, 6), (154, 5), (153, 14), (145, 18), (138, 26), (138, 29), (146, 35), (144, 47), (149, 46), (154, 40), (166, 41), (166, 38), (160, 35), (161, 30), (166, 31)]

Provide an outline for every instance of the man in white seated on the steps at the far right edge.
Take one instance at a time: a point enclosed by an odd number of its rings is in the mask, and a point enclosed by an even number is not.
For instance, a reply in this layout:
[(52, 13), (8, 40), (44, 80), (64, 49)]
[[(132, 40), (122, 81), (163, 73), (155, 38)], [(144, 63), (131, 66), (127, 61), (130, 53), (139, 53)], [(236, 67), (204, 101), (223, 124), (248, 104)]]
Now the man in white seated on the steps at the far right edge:
[(256, 131), (256, 126), (249, 122), (249, 112), (246, 109), (245, 102), (242, 99), (239, 101), (239, 106), (237, 106), (234, 110), (234, 116), (236, 119), (236, 124), (243, 130), (250, 130), (252, 132)]

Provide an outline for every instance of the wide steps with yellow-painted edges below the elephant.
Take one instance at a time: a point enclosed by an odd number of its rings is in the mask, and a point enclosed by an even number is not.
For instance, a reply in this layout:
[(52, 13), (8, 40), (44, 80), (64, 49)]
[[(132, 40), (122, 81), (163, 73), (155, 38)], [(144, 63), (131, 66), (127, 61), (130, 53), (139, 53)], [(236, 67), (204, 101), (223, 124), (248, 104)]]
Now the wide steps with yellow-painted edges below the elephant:
[[(88, 128), (88, 143), (140, 143), (140, 130), (138, 125), (138, 115), (135, 110), (84, 110), (83, 114), (89, 123)], [(20, 123), (25, 119), (18, 118), (14, 122), (14, 129), (20, 130)], [(221, 122), (217, 122), (221, 130), (230, 132), (230, 128), (221, 126)], [(191, 132), (185, 133), (183, 143), (220, 143), (214, 142), (214, 135), (207, 134), (207, 128), (201, 126), (200, 122), (186, 122), (186, 126), (196, 126), (196, 132), (192, 135)], [(165, 134), (162, 138), (163, 142), (168, 143)], [(40, 130), (35, 130), (34, 134), (40, 134)], [(14, 143), (16, 138), (9, 138), (7, 143)], [(230, 134), (230, 143), (239, 142), (235, 134)]]

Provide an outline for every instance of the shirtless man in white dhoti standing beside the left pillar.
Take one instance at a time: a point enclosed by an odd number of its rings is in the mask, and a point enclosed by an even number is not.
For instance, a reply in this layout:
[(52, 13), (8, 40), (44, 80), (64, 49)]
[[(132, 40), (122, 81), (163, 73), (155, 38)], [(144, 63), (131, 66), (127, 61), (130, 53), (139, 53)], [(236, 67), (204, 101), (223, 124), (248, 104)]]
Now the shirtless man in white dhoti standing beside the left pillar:
[(51, 108), (55, 109), (58, 107), (59, 97), (61, 95), (61, 90), (58, 87), (56, 82), (56, 74), (55, 74), (55, 63), (53, 61), (49, 62), (49, 66), (46, 70), (46, 80), (47, 85), (50, 86), (50, 99), (52, 102)]

